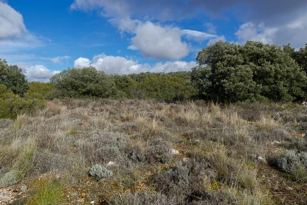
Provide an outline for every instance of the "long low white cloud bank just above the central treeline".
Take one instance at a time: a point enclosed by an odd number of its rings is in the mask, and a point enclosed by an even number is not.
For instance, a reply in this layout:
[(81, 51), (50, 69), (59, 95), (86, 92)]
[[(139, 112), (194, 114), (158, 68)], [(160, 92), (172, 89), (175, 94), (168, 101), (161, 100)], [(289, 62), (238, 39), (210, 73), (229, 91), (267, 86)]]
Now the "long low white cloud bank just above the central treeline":
[[(80, 59), (80, 58), (78, 58)], [(75, 68), (82, 68), (78, 64), (79, 60), (75, 61)], [(88, 66), (93, 66), (97, 70), (104, 71), (106, 74), (130, 74), (140, 72), (172, 72), (172, 71), (189, 71), (192, 67), (196, 66), (195, 61), (166, 61), (165, 63), (157, 63), (153, 66), (149, 64), (139, 64), (138, 60), (127, 59), (121, 56), (105, 55), (104, 53), (95, 55), (92, 60), (82, 58), (87, 62)]]

